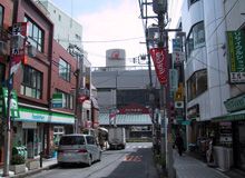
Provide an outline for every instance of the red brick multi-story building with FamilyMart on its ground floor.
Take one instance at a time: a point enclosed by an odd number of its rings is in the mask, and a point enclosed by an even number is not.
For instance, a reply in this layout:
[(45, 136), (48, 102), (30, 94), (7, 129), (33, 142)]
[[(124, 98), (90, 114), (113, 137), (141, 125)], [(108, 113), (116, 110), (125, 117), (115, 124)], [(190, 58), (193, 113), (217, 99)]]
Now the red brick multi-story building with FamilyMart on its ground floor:
[[(53, 23), (35, 2), (0, 1), (0, 8), (2, 47), (8, 47), (12, 40), (10, 27), (17, 22), (27, 22), (28, 26), (26, 34), (28, 50), (12, 80), (13, 90), (18, 96), (19, 116), (11, 121), (11, 148), (27, 147), (28, 158), (39, 156), (41, 151), (50, 156), (51, 147), (59, 136), (75, 130), (77, 96), (74, 90), (77, 88), (78, 79), (77, 59), (53, 40)], [(1, 92), (2, 87), (7, 87), (9, 81), (9, 61), (12, 60), (10, 52), (12, 50), (1, 48)], [(4, 117), (3, 109), (1, 117)], [(1, 125), (2, 130), (4, 126)], [(1, 136), (1, 161), (2, 147), (3, 136)]]

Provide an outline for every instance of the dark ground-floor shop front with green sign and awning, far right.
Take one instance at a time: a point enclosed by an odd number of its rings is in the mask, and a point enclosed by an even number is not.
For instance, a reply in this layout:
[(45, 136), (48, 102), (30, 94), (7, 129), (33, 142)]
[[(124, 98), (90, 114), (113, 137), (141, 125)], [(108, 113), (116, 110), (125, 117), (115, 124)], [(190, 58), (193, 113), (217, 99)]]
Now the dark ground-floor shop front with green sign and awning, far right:
[(219, 123), (219, 147), (226, 150), (223, 166), (245, 171), (245, 95), (231, 98), (224, 105), (228, 113), (212, 119)]

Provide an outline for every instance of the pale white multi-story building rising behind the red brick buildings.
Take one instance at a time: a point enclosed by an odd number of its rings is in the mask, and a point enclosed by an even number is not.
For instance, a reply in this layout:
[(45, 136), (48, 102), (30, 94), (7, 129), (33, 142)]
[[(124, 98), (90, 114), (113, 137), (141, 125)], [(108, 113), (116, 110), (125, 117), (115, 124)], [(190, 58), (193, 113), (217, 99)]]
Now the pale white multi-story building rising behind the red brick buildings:
[[(36, 3), (42, 9), (47, 17), (51, 19), (55, 24), (53, 39), (61, 44), (66, 50), (74, 56), (77, 67), (79, 68), (78, 72), (78, 85), (77, 91), (75, 93), (78, 98), (76, 99), (76, 126), (75, 131), (80, 132), (85, 128), (94, 126), (91, 120), (98, 120), (97, 115), (91, 115), (97, 109), (92, 107), (92, 100), (90, 97), (90, 67), (91, 63), (88, 60), (88, 55), (84, 51), (82, 47), (82, 26), (78, 23), (74, 18), (65, 13), (58, 7), (56, 7), (49, 0), (35, 0)], [(69, 30), (68, 30), (69, 29)], [(91, 118), (92, 117), (92, 118)]]

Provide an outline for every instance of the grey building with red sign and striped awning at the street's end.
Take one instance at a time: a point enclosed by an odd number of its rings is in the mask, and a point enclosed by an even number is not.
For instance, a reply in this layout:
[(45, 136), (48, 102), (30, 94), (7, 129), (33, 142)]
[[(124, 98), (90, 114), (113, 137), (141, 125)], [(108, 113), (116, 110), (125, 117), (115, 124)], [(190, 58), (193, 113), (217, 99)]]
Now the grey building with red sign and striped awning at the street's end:
[[(92, 83), (97, 88), (99, 105), (99, 125), (102, 127), (126, 128), (126, 138), (151, 136), (153, 116), (149, 92), (149, 71), (127, 67), (101, 67), (92, 70)], [(102, 70), (105, 69), (105, 70)], [(153, 75), (156, 103), (159, 98), (159, 82)], [(112, 116), (116, 119), (112, 120)], [(110, 119), (111, 120), (110, 120)], [(154, 117), (156, 118), (156, 117)]]

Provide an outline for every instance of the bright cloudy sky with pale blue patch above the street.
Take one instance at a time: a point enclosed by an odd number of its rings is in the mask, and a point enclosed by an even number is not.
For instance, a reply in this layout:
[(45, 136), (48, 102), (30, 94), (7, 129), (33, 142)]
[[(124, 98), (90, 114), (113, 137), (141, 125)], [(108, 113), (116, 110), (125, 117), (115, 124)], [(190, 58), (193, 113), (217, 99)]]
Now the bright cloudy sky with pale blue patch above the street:
[(84, 48), (92, 67), (106, 66), (107, 49), (125, 49), (129, 66), (133, 58), (146, 53), (138, 0), (51, 1), (82, 26)]

